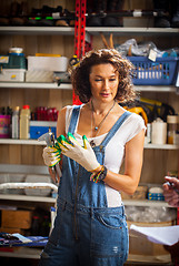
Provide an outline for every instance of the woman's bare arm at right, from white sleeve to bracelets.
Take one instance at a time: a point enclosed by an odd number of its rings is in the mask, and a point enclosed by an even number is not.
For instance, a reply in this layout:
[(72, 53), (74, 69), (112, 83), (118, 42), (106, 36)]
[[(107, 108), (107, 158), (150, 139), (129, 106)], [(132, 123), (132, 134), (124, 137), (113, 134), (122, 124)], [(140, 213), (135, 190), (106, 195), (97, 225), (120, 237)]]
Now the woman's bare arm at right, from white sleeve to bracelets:
[(143, 161), (145, 130), (126, 144), (125, 174), (107, 172), (106, 184), (117, 191), (133, 194), (138, 187)]

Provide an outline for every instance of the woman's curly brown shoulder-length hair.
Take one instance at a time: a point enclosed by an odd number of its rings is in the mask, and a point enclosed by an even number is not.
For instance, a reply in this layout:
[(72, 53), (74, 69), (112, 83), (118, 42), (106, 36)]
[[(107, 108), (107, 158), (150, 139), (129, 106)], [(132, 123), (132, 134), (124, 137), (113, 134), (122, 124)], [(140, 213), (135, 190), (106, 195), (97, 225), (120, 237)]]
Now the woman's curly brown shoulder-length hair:
[(110, 63), (119, 73), (119, 85), (116, 100), (119, 102), (132, 101), (136, 98), (131, 73), (132, 63), (122, 58), (115, 49), (99, 49), (86, 53), (80, 63), (71, 72), (71, 82), (74, 93), (81, 102), (87, 103), (91, 98), (89, 74), (91, 68), (97, 64)]

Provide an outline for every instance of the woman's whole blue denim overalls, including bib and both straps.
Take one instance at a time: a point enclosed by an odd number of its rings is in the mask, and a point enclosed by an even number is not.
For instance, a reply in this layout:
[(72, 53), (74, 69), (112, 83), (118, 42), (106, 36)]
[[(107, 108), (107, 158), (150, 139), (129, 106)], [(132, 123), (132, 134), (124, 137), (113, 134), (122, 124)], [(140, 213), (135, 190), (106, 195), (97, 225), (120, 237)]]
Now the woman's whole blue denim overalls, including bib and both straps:
[[(74, 133), (80, 106), (74, 106), (69, 132)], [(105, 147), (130, 115), (125, 112), (99, 146), (93, 147), (103, 164)], [(105, 183), (90, 181), (91, 173), (63, 156), (54, 228), (41, 254), (40, 266), (121, 266), (128, 256), (125, 207), (108, 207)]]

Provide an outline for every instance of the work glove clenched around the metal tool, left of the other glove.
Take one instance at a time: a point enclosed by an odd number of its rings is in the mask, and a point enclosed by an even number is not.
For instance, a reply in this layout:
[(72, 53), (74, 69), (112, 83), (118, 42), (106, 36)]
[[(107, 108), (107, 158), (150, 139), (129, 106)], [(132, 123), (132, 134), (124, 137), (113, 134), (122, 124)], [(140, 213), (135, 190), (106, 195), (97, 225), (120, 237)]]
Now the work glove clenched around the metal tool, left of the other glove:
[(48, 146), (43, 149), (42, 157), (43, 157), (44, 164), (49, 167), (52, 167), (60, 162), (61, 160), (60, 155), (61, 155), (61, 150), (58, 146), (58, 144), (54, 147)]

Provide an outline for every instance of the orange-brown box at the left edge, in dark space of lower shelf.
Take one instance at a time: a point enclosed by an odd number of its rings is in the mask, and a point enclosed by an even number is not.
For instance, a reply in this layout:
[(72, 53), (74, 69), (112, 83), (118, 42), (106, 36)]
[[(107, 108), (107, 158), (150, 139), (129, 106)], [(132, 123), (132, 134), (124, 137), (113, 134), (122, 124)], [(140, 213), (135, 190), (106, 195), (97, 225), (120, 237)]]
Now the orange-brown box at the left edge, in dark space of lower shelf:
[(29, 229), (31, 227), (31, 211), (1, 211), (1, 227)]

